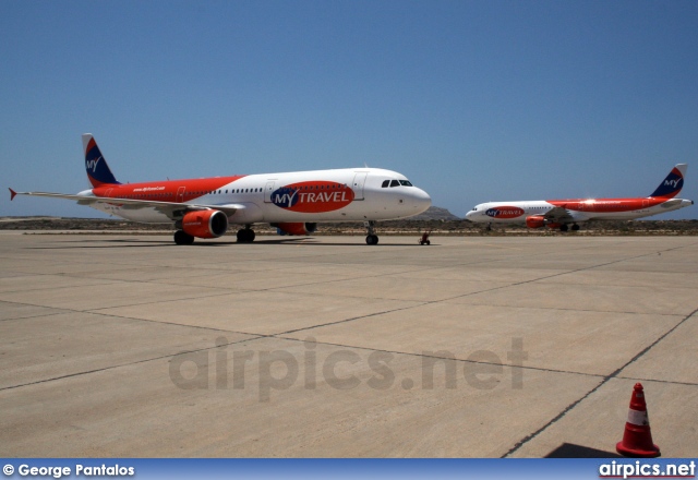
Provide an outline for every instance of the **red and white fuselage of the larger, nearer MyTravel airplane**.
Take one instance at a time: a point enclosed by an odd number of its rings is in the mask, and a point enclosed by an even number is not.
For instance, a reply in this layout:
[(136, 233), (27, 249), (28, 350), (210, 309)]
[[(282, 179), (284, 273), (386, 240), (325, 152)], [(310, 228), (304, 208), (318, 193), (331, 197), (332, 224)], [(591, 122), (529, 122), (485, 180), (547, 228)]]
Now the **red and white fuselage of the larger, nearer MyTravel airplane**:
[(429, 195), (411, 185), (405, 176), (377, 168), (108, 184), (79, 195), (115, 199), (113, 203), (89, 206), (144, 223), (171, 223), (171, 218), (157, 206), (133, 208), (118, 200), (181, 203), (182, 207), (243, 206), (229, 217), (230, 223), (241, 225), (385, 220), (417, 215), (431, 205)]

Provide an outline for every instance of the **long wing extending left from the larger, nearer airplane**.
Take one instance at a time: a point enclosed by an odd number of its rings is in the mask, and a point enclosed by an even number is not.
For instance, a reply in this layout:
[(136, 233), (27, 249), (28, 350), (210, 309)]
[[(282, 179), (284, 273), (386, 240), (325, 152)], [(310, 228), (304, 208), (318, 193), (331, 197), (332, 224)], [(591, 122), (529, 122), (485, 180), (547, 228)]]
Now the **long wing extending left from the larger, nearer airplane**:
[(192, 203), (174, 203), (174, 202), (156, 202), (153, 200), (134, 200), (134, 199), (110, 199), (105, 196), (87, 196), (87, 195), (71, 195), (68, 193), (50, 193), (50, 192), (15, 192), (10, 189), (12, 199), (15, 195), (29, 195), (29, 196), (48, 196), (51, 199), (65, 199), (77, 202), (79, 205), (93, 205), (97, 203), (105, 203), (111, 205), (119, 205), (124, 209), (139, 209), (139, 208), (155, 208), (158, 212), (167, 215), (171, 220), (178, 220), (188, 212), (217, 209), (226, 214), (228, 217), (234, 215), (236, 212), (244, 209), (244, 205), (240, 204), (226, 204), (226, 205), (205, 205), (205, 204), (192, 204)]

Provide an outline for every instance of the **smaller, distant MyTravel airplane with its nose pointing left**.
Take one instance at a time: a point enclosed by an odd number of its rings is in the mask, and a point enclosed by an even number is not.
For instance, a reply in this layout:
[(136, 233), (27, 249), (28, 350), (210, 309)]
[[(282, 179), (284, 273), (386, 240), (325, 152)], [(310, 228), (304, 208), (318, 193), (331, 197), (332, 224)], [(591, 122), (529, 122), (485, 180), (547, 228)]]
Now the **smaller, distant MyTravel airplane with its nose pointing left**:
[[(537, 200), (529, 202), (488, 202), (472, 208), (466, 218), (483, 224), (526, 224), (528, 228), (579, 230), (579, 223), (589, 220), (631, 220), (663, 214), (694, 204), (675, 199), (684, 187), (686, 164), (676, 165), (657, 190), (637, 199)], [(489, 225), (489, 226), (490, 226)], [(488, 226), (488, 227), (489, 227)]]

